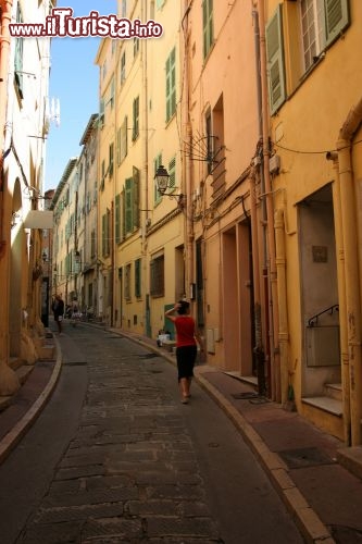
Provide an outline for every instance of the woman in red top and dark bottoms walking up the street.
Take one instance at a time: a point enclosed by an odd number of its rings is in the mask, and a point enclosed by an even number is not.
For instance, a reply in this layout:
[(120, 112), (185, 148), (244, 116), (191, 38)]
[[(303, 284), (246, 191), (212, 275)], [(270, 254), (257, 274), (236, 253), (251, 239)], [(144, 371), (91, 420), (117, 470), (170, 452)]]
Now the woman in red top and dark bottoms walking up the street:
[(179, 300), (174, 308), (165, 312), (165, 317), (174, 323), (176, 329), (178, 384), (182, 403), (188, 404), (198, 344), (200, 350), (203, 350), (201, 337), (196, 330), (195, 319), (190, 316), (190, 304), (187, 300)]

